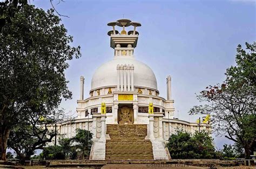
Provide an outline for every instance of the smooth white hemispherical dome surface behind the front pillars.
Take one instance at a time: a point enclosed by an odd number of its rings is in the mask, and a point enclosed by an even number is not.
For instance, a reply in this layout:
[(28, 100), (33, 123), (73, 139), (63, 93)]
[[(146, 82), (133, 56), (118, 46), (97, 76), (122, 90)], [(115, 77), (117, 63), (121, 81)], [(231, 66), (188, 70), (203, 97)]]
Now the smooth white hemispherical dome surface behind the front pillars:
[(134, 58), (124, 57), (114, 58), (100, 66), (92, 76), (91, 89), (94, 90), (104, 86), (116, 86), (118, 64), (134, 65), (134, 86), (157, 90), (157, 79), (150, 67)]

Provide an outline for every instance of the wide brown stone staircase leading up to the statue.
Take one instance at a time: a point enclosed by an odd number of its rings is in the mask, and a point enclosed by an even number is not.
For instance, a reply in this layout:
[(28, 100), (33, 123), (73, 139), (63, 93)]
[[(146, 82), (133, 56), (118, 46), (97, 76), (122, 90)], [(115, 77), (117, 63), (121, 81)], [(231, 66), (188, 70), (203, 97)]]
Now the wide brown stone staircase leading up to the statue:
[(106, 160), (153, 160), (152, 143), (145, 140), (147, 125), (108, 124)]

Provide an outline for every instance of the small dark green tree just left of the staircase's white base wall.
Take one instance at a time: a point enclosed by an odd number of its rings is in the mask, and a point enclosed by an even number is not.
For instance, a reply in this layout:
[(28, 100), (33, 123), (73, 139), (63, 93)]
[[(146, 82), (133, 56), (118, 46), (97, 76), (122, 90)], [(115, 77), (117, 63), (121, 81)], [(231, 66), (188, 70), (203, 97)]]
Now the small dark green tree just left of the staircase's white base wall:
[(76, 136), (72, 138), (76, 143), (76, 148), (82, 152), (82, 159), (89, 157), (92, 145), (92, 133), (83, 129), (76, 129)]

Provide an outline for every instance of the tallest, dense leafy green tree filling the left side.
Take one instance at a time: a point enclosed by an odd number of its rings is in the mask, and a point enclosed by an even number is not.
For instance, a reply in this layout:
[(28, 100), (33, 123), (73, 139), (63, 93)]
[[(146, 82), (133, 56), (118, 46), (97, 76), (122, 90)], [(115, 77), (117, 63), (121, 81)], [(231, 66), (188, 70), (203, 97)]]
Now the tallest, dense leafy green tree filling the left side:
[[(64, 71), (80, 47), (54, 11), (33, 5), (0, 5), (5, 18), (0, 41), (0, 151), (5, 153), (10, 131), (31, 115), (55, 116), (62, 98), (70, 99)], [(10, 10), (15, 10), (9, 15)], [(6, 19), (8, 18), (8, 19)]]

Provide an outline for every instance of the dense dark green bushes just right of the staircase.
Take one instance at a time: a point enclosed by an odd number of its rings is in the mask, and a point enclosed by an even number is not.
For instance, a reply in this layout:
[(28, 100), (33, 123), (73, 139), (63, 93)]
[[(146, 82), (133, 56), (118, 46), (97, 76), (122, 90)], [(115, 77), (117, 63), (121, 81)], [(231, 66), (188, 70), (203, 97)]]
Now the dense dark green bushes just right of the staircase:
[(173, 159), (211, 159), (216, 157), (212, 140), (204, 130), (191, 134), (177, 129), (166, 146)]

